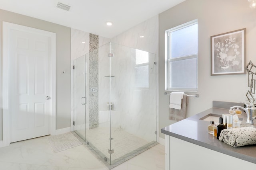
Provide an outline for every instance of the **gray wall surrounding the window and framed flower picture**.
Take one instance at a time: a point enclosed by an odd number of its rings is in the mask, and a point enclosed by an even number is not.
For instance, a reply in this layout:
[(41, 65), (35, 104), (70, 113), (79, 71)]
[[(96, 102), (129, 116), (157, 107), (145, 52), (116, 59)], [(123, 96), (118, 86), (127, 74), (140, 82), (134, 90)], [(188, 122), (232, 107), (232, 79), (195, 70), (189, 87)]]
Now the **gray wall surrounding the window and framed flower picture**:
[[(212, 100), (246, 100), (246, 74), (210, 76), (210, 36), (246, 28), (246, 64), (256, 64), (256, 9), (246, 0), (186, 0), (159, 14), (159, 127), (174, 123), (168, 119), (169, 96), (164, 96), (164, 31), (198, 19), (198, 94), (189, 98), (186, 117), (212, 107)], [(195, 94), (187, 92), (188, 94)], [(181, 127), (182, 128), (182, 127)], [(187, 129), (189, 131), (189, 129)], [(160, 137), (164, 135), (160, 133)]]

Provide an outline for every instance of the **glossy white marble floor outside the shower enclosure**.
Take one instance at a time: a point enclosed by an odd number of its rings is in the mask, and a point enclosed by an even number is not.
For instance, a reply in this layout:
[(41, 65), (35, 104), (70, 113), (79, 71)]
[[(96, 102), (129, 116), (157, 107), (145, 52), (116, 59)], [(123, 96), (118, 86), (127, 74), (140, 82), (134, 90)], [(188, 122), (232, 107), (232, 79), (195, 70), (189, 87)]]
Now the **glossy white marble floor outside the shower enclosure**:
[[(164, 146), (156, 145), (112, 170), (164, 170)], [(54, 153), (47, 137), (0, 148), (0, 170), (108, 170), (84, 145)]]

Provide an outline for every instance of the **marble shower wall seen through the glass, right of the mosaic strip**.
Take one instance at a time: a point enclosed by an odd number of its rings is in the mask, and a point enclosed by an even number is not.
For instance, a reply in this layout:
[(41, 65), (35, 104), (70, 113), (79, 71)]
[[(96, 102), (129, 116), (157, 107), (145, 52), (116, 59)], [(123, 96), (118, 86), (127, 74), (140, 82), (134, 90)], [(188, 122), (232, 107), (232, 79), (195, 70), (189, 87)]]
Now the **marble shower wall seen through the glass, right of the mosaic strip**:
[[(108, 57), (109, 49), (114, 57)], [(111, 61), (110, 61), (111, 60)], [(99, 48), (99, 119), (100, 127), (109, 127), (106, 104), (110, 101), (111, 127), (156, 141), (156, 55), (149, 53), (148, 88), (136, 87), (136, 50), (115, 43)], [(110, 64), (111, 74), (110, 74)], [(111, 78), (110, 78), (111, 76)], [(104, 117), (104, 119), (103, 119)]]

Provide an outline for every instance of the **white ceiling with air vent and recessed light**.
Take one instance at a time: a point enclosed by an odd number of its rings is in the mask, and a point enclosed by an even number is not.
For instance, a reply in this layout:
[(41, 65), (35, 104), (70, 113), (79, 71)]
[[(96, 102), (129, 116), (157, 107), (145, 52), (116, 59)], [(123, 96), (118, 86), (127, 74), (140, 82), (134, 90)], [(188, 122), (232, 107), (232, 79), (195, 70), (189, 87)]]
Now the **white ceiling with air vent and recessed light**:
[[(112, 38), (185, 0), (0, 0), (0, 8)], [(56, 8), (70, 5), (69, 11)], [(106, 21), (113, 25), (107, 26)]]

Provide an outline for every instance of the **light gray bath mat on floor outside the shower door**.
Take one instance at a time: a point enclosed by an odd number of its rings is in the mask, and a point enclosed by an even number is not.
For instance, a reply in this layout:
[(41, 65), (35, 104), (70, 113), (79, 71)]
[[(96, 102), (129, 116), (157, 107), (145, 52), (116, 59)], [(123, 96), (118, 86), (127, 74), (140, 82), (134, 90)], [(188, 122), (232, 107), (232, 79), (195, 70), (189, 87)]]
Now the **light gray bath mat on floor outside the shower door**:
[(71, 132), (50, 136), (48, 141), (54, 153), (82, 145)]

